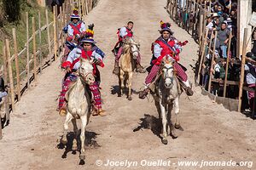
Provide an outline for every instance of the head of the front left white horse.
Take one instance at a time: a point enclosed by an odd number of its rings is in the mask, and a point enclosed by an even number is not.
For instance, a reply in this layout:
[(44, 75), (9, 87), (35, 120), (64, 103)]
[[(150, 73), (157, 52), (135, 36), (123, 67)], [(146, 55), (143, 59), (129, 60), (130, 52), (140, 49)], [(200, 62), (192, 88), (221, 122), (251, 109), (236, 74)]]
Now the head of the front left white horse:
[(79, 77), (81, 78), (82, 82), (89, 85), (95, 82), (92, 63), (93, 59), (89, 60), (80, 58)]

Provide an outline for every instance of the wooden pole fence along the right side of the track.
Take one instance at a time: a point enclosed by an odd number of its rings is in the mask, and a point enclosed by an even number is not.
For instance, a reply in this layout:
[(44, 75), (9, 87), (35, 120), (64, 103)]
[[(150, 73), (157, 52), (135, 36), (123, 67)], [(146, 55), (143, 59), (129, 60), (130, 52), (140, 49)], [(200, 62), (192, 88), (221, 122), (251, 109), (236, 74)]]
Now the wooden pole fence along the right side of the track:
[[(209, 78), (207, 80), (207, 89), (206, 92), (211, 93), (212, 92), (212, 82), (221, 82), (224, 83), (224, 98), (226, 98), (227, 95), (227, 87), (230, 85), (239, 87), (239, 94), (237, 99), (237, 111), (241, 111), (241, 97), (242, 97), (242, 91), (246, 90), (249, 91), (249, 88), (247, 88), (244, 84), (244, 65), (246, 60), (249, 60), (246, 57), (246, 48), (247, 48), (247, 37), (244, 37), (244, 43), (243, 43), (243, 53), (241, 60), (236, 60), (236, 62), (240, 62), (241, 65), (241, 76), (239, 81), (229, 81), (228, 80), (228, 71), (229, 71), (229, 65), (230, 65), (230, 42), (232, 38), (232, 32), (230, 31), (229, 35), (229, 43), (227, 48), (227, 56), (228, 58), (225, 60), (225, 77), (224, 80), (216, 80), (212, 77), (212, 70), (213, 70), (213, 60), (217, 58), (215, 56), (215, 41), (213, 42), (212, 47), (212, 33), (213, 31), (209, 31), (206, 29), (207, 26), (207, 16), (211, 15), (211, 1), (210, 6), (207, 6), (206, 1), (204, 0), (169, 0), (169, 3), (166, 6), (167, 12), (170, 14), (170, 18), (175, 21), (175, 23), (178, 26), (181, 26), (183, 29), (188, 31), (188, 33), (194, 37), (195, 42), (199, 43), (199, 58), (198, 58), (198, 65), (197, 65), (197, 73), (195, 75), (195, 79), (197, 84), (200, 85), (200, 81), (203, 78), (203, 75), (201, 73), (202, 67), (204, 65), (204, 61), (207, 54), (212, 55), (211, 59), (211, 66), (210, 66), (210, 74)], [(181, 4), (183, 2), (183, 4)], [(214, 31), (215, 35), (218, 34), (218, 31)], [(245, 32), (247, 32), (247, 28), (245, 28)], [(246, 35), (246, 33), (244, 34)], [(207, 37), (210, 38), (210, 42), (207, 42)], [(214, 39), (216, 39), (216, 36), (213, 36)], [(208, 40), (209, 41), (209, 40)], [(208, 50), (208, 53), (206, 54), (206, 49)], [(250, 60), (250, 62), (253, 62)], [(202, 86), (206, 86), (206, 84), (202, 84)], [(204, 88), (204, 87), (202, 87)], [(255, 103), (255, 102), (254, 102)], [(254, 104), (253, 114), (255, 114), (255, 104)]]

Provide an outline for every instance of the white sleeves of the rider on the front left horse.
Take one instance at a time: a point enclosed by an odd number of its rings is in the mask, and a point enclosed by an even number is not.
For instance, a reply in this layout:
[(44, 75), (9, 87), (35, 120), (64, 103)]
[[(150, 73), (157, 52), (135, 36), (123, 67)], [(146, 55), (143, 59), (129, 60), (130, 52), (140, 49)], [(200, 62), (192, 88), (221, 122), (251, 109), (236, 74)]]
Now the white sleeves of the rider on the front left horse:
[[(82, 54), (82, 51), (81, 49), (79, 48), (73, 48), (73, 50), (68, 54), (67, 56), (67, 61), (73, 63), (74, 60), (78, 59)], [(94, 58), (94, 59), (102, 59), (102, 56), (100, 54), (97, 54), (96, 53), (96, 50), (94, 50), (90, 56), (91, 58)], [(78, 70), (80, 67), (80, 61), (77, 62), (75, 65), (73, 65), (73, 69), (74, 70)]]

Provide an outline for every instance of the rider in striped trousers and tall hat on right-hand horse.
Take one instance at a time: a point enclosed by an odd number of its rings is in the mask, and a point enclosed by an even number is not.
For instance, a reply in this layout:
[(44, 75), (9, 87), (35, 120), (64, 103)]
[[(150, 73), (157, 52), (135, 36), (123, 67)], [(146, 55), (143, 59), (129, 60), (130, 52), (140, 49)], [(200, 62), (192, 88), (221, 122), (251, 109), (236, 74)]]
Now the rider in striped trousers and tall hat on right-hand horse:
[(174, 32), (170, 29), (171, 24), (164, 23), (163, 21), (161, 21), (160, 24), (161, 36), (157, 38), (152, 44), (152, 50), (154, 54), (154, 57), (151, 61), (152, 68), (145, 80), (146, 87), (143, 91), (140, 92), (139, 98), (145, 99), (145, 97), (149, 93), (148, 87), (152, 82), (154, 82), (155, 78), (157, 77), (161, 67), (161, 60), (166, 56), (171, 57), (173, 61), (172, 65), (174, 67), (174, 70), (177, 71), (178, 79), (181, 80), (181, 82), (183, 82), (183, 85), (186, 87), (186, 94), (191, 96), (193, 95), (193, 91), (189, 83), (188, 76), (184, 71), (185, 68), (177, 63), (179, 60), (179, 54), (182, 50), (182, 46), (185, 45), (187, 41), (183, 43), (177, 42), (177, 39), (173, 37)]

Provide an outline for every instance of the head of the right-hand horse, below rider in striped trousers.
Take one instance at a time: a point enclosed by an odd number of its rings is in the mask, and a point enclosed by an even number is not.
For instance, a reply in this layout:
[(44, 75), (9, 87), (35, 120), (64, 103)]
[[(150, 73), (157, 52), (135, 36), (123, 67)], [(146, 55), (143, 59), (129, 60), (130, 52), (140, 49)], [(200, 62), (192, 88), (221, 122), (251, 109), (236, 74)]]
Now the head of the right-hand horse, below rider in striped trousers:
[(174, 78), (174, 68), (172, 65), (172, 59), (166, 57), (162, 60), (161, 77), (164, 81), (166, 88), (172, 88)]

